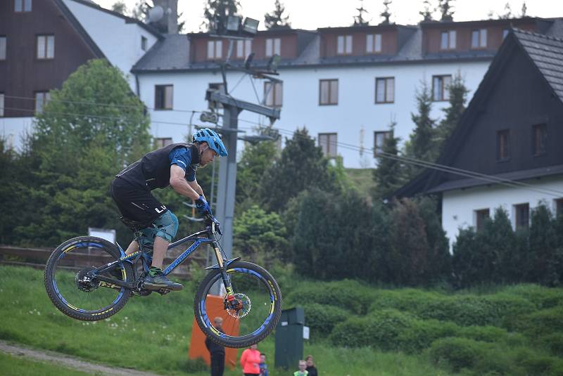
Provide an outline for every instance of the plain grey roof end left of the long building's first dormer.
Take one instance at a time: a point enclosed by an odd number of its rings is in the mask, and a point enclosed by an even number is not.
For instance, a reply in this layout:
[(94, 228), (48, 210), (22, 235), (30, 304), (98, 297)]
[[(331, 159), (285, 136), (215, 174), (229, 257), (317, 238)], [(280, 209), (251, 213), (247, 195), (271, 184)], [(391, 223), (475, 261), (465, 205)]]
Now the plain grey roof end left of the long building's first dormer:
[(186, 34), (165, 34), (137, 61), (132, 71), (185, 70), (189, 67), (189, 39)]

